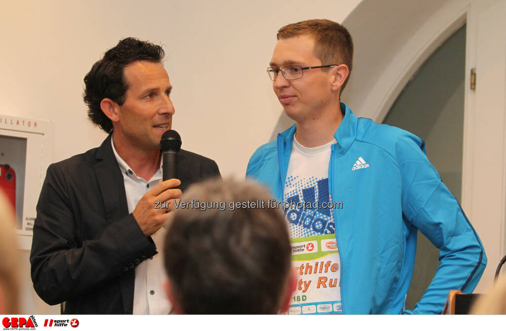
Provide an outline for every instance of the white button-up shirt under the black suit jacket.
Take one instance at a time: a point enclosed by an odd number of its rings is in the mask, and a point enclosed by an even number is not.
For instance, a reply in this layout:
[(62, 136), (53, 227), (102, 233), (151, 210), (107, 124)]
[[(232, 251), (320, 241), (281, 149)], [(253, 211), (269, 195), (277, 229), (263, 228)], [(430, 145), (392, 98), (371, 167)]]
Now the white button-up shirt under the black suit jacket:
[[(123, 174), (128, 212), (132, 213), (143, 195), (161, 182), (161, 160), (160, 169), (146, 182), (144, 178), (138, 177), (118, 155), (112, 136), (111, 144), (119, 169)], [(168, 314), (171, 309), (162, 287), (162, 283), (166, 279), (162, 250), (165, 234), (166, 230), (162, 227), (151, 236), (156, 244), (158, 254), (141, 262), (135, 268), (134, 314)]]

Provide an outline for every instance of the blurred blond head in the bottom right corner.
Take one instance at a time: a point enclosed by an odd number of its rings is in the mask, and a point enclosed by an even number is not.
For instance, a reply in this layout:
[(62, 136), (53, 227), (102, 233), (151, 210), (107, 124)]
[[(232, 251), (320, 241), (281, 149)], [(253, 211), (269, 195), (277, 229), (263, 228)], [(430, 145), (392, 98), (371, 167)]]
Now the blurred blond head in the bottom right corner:
[(499, 276), (491, 291), (480, 295), (471, 308), (471, 314), (506, 314), (506, 275)]

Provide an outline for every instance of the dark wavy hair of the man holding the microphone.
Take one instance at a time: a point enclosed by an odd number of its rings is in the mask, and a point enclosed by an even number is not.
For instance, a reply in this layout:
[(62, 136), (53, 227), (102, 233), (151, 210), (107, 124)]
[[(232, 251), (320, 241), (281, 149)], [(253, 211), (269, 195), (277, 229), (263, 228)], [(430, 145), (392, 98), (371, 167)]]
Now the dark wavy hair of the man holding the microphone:
[(109, 98), (118, 105), (125, 101), (128, 82), (123, 68), (135, 61), (161, 63), (165, 52), (161, 46), (128, 37), (105, 52), (85, 76), (85, 92), (82, 97), (88, 106), (88, 118), (107, 133), (112, 131), (112, 121), (102, 112), (100, 102)]

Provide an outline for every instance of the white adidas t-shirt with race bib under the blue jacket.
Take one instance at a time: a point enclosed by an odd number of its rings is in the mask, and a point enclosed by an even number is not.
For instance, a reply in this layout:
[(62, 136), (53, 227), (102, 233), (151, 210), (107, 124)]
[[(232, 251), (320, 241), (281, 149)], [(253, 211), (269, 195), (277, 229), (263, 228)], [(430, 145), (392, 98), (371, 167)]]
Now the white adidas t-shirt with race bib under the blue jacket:
[[(341, 261), (328, 186), (330, 146), (302, 146), (295, 137), (283, 202), (292, 245), (297, 288), (288, 314), (341, 314)], [(285, 205), (284, 204), (284, 205)], [(330, 207), (330, 208), (329, 208)]]

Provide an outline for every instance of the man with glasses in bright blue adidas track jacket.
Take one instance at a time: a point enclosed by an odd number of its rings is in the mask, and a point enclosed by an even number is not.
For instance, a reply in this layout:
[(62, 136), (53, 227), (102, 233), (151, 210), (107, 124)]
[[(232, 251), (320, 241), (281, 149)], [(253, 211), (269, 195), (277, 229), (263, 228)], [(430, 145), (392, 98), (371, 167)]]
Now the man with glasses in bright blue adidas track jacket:
[[(357, 118), (340, 94), (352, 69), (349, 32), (329, 20), (282, 27), (270, 67), (297, 122), (257, 149), (247, 176), (284, 209), (298, 287), (290, 314), (437, 314), (451, 289), (472, 292), (483, 245), (409, 132)], [(430, 286), (403, 310), (416, 233), (440, 250)]]

